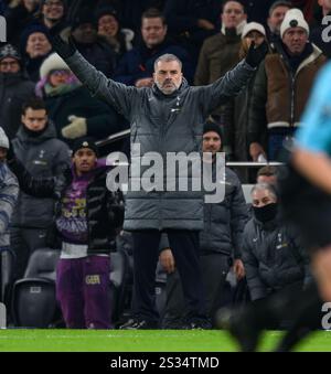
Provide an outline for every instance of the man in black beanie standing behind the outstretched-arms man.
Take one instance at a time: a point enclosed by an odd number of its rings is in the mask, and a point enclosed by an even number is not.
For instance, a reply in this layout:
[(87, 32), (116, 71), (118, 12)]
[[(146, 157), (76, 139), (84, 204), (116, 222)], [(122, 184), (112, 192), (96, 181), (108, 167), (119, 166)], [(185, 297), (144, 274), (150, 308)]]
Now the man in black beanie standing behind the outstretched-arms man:
[[(213, 180), (216, 178), (216, 153), (222, 149), (222, 132), (217, 125), (207, 122), (203, 129), (203, 152), (213, 154)], [(204, 162), (207, 162), (204, 159)], [(200, 232), (200, 264), (206, 299), (207, 316), (212, 320), (224, 300), (226, 275), (234, 265), (237, 279), (245, 276), (241, 260), (243, 231), (248, 221), (248, 211), (242, 184), (234, 171), (225, 168), (225, 174), (218, 181), (225, 188), (220, 203), (204, 203), (204, 229)], [(160, 254), (160, 261), (168, 273), (167, 306), (163, 328), (185, 328), (185, 304), (181, 281), (171, 249)]]

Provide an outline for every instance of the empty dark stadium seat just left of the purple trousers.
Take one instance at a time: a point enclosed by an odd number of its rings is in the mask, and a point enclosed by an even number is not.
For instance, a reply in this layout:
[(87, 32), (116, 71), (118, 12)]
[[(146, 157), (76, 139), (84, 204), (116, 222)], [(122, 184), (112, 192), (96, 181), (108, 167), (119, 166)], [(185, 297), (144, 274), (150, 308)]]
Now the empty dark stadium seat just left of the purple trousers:
[(30, 257), (24, 278), (13, 285), (14, 325), (49, 328), (61, 321), (55, 297), (56, 263), (61, 250), (36, 249)]

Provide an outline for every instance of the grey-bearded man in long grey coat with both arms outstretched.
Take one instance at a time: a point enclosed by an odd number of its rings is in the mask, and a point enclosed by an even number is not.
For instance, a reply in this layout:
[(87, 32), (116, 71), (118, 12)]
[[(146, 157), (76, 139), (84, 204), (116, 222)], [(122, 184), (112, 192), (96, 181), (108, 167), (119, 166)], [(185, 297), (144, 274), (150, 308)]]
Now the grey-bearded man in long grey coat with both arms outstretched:
[[(157, 152), (162, 160), (169, 152), (201, 151), (203, 122), (207, 115), (236, 95), (264, 58), (266, 45), (248, 52), (223, 78), (209, 86), (190, 87), (174, 55), (162, 55), (154, 63), (151, 88), (136, 88), (116, 83), (97, 72), (75, 49), (60, 36), (55, 51), (82, 83), (121, 113), (131, 125), (131, 177), (140, 180), (145, 170), (139, 160)], [(139, 147), (138, 147), (139, 146)], [(164, 168), (163, 168), (164, 170)], [(180, 175), (174, 177), (178, 182)], [(164, 180), (164, 179), (163, 179)], [(163, 181), (160, 184), (163, 185)], [(203, 229), (203, 195), (194, 191), (132, 191), (126, 197), (124, 228), (134, 238), (134, 314), (124, 328), (158, 327), (153, 284), (162, 232), (167, 232), (183, 284), (192, 327), (205, 320), (205, 307), (199, 269), (199, 231)]]

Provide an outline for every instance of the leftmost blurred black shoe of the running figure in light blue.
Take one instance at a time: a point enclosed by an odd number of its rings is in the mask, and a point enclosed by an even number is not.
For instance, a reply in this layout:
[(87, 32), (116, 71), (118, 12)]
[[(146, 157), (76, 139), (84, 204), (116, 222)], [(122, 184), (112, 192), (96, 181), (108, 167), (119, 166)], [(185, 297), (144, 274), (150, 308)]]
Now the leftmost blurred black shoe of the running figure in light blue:
[(256, 325), (254, 314), (247, 310), (220, 309), (216, 314), (220, 329), (227, 330), (238, 342), (243, 352), (254, 352), (261, 330)]

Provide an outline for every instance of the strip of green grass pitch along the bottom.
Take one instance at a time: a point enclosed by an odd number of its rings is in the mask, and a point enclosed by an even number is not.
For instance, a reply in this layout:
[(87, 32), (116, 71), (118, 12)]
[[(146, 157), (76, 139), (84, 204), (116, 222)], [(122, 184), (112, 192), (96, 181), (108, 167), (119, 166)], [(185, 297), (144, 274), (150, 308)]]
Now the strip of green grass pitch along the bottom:
[[(281, 332), (269, 331), (260, 351), (271, 351)], [(224, 331), (0, 330), (0, 352), (235, 352)], [(318, 331), (297, 351), (331, 352), (331, 332)]]

